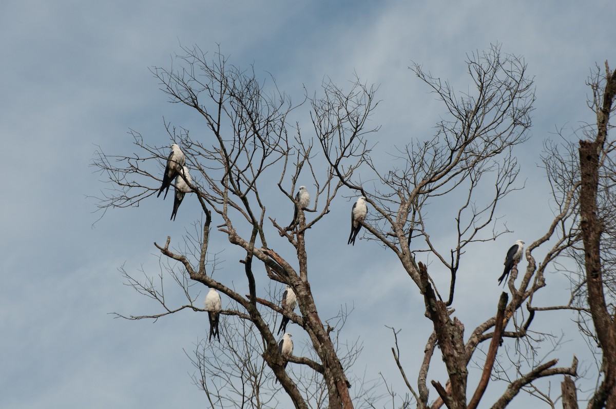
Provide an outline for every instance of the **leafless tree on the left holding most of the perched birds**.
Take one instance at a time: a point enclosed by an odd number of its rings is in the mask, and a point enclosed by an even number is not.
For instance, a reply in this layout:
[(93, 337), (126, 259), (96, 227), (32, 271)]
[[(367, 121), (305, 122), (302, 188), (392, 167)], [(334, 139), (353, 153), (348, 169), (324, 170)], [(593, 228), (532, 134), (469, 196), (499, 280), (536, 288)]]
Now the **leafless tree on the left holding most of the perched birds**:
[[(189, 281), (202, 283), (225, 294), (237, 305), (237, 310), (226, 310), (223, 314), (251, 322), (262, 338), (261, 356), (295, 407), (307, 408), (307, 402), (285, 371), (285, 361), (278, 353), (278, 342), (270, 322), (264, 318), (264, 310), (285, 314), (306, 331), (315, 359), (291, 357), (291, 361), (306, 365), (322, 376), (330, 408), (352, 408), (351, 383), (330, 338), (333, 328), (324, 324), (312, 298), (307, 268), (309, 254), (306, 253), (307, 232), (323, 221), (342, 183), (334, 177), (333, 168), (315, 168), (318, 158), (312, 154), (312, 142), (302, 138), (301, 128), (290, 119), (302, 103), (293, 105), (289, 97), (278, 91), (275, 83), (273, 91), (265, 91), (254, 71), (242, 71), (229, 65), (220, 53), (214, 60), (208, 60), (196, 47), (184, 49), (184, 52), (185, 55), (177, 57), (180, 63), (177, 70), (153, 68), (152, 73), (160, 80), (161, 89), (171, 102), (193, 108), (205, 123), (205, 137), (195, 137), (185, 129), (176, 132), (167, 126), (170, 139), (186, 156), (193, 181), (185, 182), (197, 196), (205, 220), (201, 231), (188, 240), (186, 251), (172, 249), (170, 237), (164, 244), (155, 243), (155, 246), (164, 257), (179, 262), (180, 272), (169, 267), (183, 288), (187, 288)], [(365, 121), (375, 106), (374, 90), (355, 84), (333, 108), (343, 114), (337, 126), (352, 128), (357, 134), (371, 132), (365, 129)], [(104, 210), (137, 206), (152, 196), (160, 185), (161, 174), (153, 164), (166, 160), (168, 148), (153, 147), (138, 132), (131, 133), (137, 153), (112, 156), (100, 150), (95, 158), (94, 166), (112, 185), (100, 198), (99, 206)], [(346, 177), (363, 163), (367, 152), (365, 144), (359, 144), (342, 154), (354, 162), (343, 171)], [(294, 229), (286, 229), (267, 213), (264, 192), (272, 193), (277, 182), (278, 189), (292, 206), (300, 177), (303, 184), (310, 187), (312, 204), (307, 209), (299, 209)], [(311, 214), (309, 220), (306, 212)], [(213, 266), (208, 261), (208, 243), (214, 219), (217, 231), (245, 252), (240, 262), (245, 270), (248, 294), (240, 294), (230, 283), (211, 277)], [(272, 234), (272, 228), (293, 246), (293, 259), (285, 259), (276, 249), (270, 248), (267, 237)], [(256, 271), (293, 288), (298, 297), (299, 315), (283, 311), (272, 299), (259, 296)], [(185, 291), (190, 302), (171, 308), (164, 304), (160, 290), (151, 282), (141, 283), (132, 280), (130, 275), (126, 277), (140, 293), (158, 299), (165, 306), (163, 314), (147, 317), (158, 318), (184, 308), (201, 310), (193, 304), (195, 299), (188, 290)]]

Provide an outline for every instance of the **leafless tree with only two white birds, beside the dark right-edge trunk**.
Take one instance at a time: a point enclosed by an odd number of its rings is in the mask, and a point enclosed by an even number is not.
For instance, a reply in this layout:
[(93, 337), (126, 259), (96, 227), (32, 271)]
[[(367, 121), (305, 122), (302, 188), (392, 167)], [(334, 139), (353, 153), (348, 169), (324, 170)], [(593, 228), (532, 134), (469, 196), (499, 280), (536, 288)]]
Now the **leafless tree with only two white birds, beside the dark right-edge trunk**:
[[(365, 196), (370, 204), (370, 214), (362, 223), (368, 232), (365, 238), (378, 241), (398, 257), (403, 269), (422, 294), (426, 317), (434, 326), (434, 332), (426, 344), (416, 391), (408, 382), (394, 350), (394, 358), (418, 408), (439, 408), (445, 404), (450, 409), (457, 409), (479, 405), (490, 374), (493, 373), (501, 338), (527, 339), (527, 331), (538, 311), (533, 307), (533, 298), (545, 286), (546, 268), (562, 251), (579, 240), (578, 230), (570, 223), (577, 209), (573, 203), (575, 187), (572, 187), (558, 198), (560, 211), (546, 225), (545, 235), (532, 241), (525, 249), (524, 259), (528, 264), (517, 284), (517, 267), (512, 270), (508, 280), (511, 299), (501, 298), (498, 308), (495, 306), (496, 314), (477, 326), (468, 338), (464, 337), (464, 325), (451, 309), (454, 305), (456, 278), (463, 271), (460, 256), (466, 248), (494, 240), (508, 231), (492, 230), (495, 211), (497, 204), (506, 195), (519, 188), (515, 185), (519, 168), (512, 149), (527, 138), (534, 101), (533, 82), (527, 75), (524, 61), (514, 55), (501, 54), (500, 47), (493, 46), (483, 54), (469, 55), (467, 66), (472, 80), (469, 87), (471, 91), (463, 94), (456, 93), (447, 81), (432, 76), (421, 66), (411, 67), (416, 76), (436, 95), (436, 99), (442, 102), (445, 115), (437, 124), (436, 135), (413, 138), (413, 142), (398, 148), (399, 166), (381, 169), (367, 154), (366, 161), (371, 174), (362, 174), (362, 179), (378, 181), (370, 186), (362, 185), (355, 175), (346, 176), (344, 173), (349, 164), (346, 164), (346, 158), (341, 153), (354, 147), (357, 140), (354, 140), (352, 133), (339, 136), (336, 117), (331, 114), (331, 102), (336, 101), (336, 98), (328, 94), (324, 99), (313, 102), (315, 129), (317, 134), (326, 136), (320, 142), (328, 163), (342, 184), (357, 192), (358, 196)], [(331, 92), (333, 95), (342, 95), (333, 87)], [(479, 195), (478, 191), (489, 185), (493, 187), (493, 194), (486, 200), (485, 195)], [(437, 199), (447, 200), (450, 208), (458, 203), (455, 210), (447, 214), (453, 221), (452, 230), (457, 232), (457, 238), (450, 248), (437, 248), (430, 233), (433, 226), (424, 217), (431, 208), (431, 201)], [(440, 216), (439, 222), (443, 219), (447, 217)], [(546, 246), (550, 239), (551, 247), (537, 261), (535, 253), (540, 246)], [(416, 261), (416, 257), (422, 253), (436, 256), (440, 265), (448, 270), (446, 288), (438, 288), (426, 265)], [(541, 310), (549, 309), (541, 307)], [(526, 316), (525, 312), (528, 312)], [(514, 319), (516, 315), (519, 317)], [(525, 317), (522, 322), (521, 317)], [(513, 330), (506, 330), (512, 321)], [(469, 363), (484, 342), (490, 342), (487, 359), (481, 363), (484, 376), (477, 386), (469, 390)], [(428, 370), (436, 346), (440, 348), (448, 378), (445, 384), (431, 382), (438, 394), (438, 399), (431, 402)], [(493, 403), (493, 407), (505, 407), (522, 388), (536, 379), (556, 374), (575, 375), (575, 357), (571, 366), (558, 367), (556, 363), (557, 360), (551, 360), (529, 368), (526, 373), (514, 374), (506, 391)], [(485, 407), (486, 403), (482, 405)]]

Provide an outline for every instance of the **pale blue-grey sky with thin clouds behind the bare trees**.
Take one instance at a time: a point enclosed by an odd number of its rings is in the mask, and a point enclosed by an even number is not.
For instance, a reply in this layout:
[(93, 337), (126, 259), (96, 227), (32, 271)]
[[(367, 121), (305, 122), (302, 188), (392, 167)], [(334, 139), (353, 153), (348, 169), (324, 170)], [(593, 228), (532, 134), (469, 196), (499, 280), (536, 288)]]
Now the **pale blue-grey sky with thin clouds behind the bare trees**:
[[(104, 188), (89, 167), (97, 145), (108, 153), (133, 152), (129, 128), (150, 144), (168, 145), (163, 116), (195, 132), (203, 129), (192, 111), (167, 102), (148, 71), (171, 67), (180, 46), (196, 44), (214, 52), (220, 44), (231, 63), (254, 64), (261, 78), (271, 73), (293, 100), (301, 99), (302, 86), (318, 91), (326, 77), (346, 86), (357, 73), (378, 84), (382, 102), (373, 123), (382, 125), (376, 150), (382, 160), (394, 144), (431, 135), (443, 112), (408, 70), (411, 62), (464, 90), (467, 53), (500, 43), (503, 52), (524, 56), (537, 86), (532, 138), (516, 150), (519, 180), (526, 180), (526, 188), (498, 209), (515, 233), (464, 256), (456, 314), (467, 334), (496, 305), (496, 277), (506, 249), (517, 238), (529, 243), (543, 235), (551, 220), (546, 179), (537, 168), (543, 142), (555, 138), (556, 128), (577, 129), (593, 121), (586, 107), (590, 68), (606, 59), (616, 66), (613, 1), (174, 3), (0, 5), (6, 185), (0, 212), (0, 407), (204, 403), (205, 395), (190, 381), (193, 368), (183, 349), (190, 351), (206, 336), (205, 314), (185, 311), (155, 324), (108, 314), (160, 312), (124, 286), (117, 269), (124, 265), (129, 272), (158, 273), (153, 241), (164, 243), (168, 235), (181, 240), (201, 217), (196, 201), (187, 197), (176, 222), (168, 220), (172, 200), (155, 197), (136, 209), (109, 211), (96, 222), (96, 201), (87, 197)], [(280, 215), (285, 220), (291, 217), (288, 206), (282, 205), (288, 209)], [(385, 325), (402, 328), (403, 362), (415, 379), (430, 327), (423, 301), (375, 243), (346, 246), (349, 208), (341, 198), (328, 223), (307, 235), (312, 288), (323, 317), (335, 315), (341, 304), (355, 307), (344, 331), (349, 339), (362, 339), (365, 347), (357, 373), (375, 379), (380, 371), (403, 392)], [(446, 241), (447, 225), (435, 234)], [(217, 274), (243, 283), (241, 256), (228, 247), (224, 237), (214, 238), (211, 251), (222, 252), (224, 261)], [(566, 303), (567, 280), (556, 274), (548, 280), (546, 304)], [(554, 322), (554, 317), (546, 314), (536, 323)], [(556, 328), (575, 328), (569, 317), (557, 319)], [(297, 346), (303, 338), (295, 332)], [(555, 356), (567, 365), (572, 353), (580, 354), (585, 346), (575, 331), (564, 338), (569, 342)], [(555, 389), (559, 382), (554, 380)], [(490, 384), (488, 393), (499, 395), (503, 389)]]

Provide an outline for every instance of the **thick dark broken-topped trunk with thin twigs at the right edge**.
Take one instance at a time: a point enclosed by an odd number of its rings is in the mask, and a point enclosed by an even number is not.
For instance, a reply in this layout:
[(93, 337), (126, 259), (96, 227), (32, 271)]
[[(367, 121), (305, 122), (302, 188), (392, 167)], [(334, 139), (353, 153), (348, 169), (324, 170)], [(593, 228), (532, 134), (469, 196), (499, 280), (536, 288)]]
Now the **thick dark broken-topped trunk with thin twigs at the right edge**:
[[(579, 269), (570, 273), (573, 284), (570, 304), (577, 306), (578, 325), (600, 361), (597, 387), (588, 400), (588, 408), (616, 408), (615, 168), (614, 141), (607, 137), (610, 114), (615, 109), (616, 71), (611, 71), (607, 62), (604, 73), (597, 66), (587, 84), (593, 91), (588, 107), (596, 115), (596, 123), (583, 126), (586, 139), (579, 141), (577, 155), (573, 145), (569, 145), (566, 155), (554, 156), (574, 162), (570, 173), (579, 186), (583, 243), (569, 252)], [(565, 378), (561, 388), (563, 406), (578, 408), (573, 380)]]

